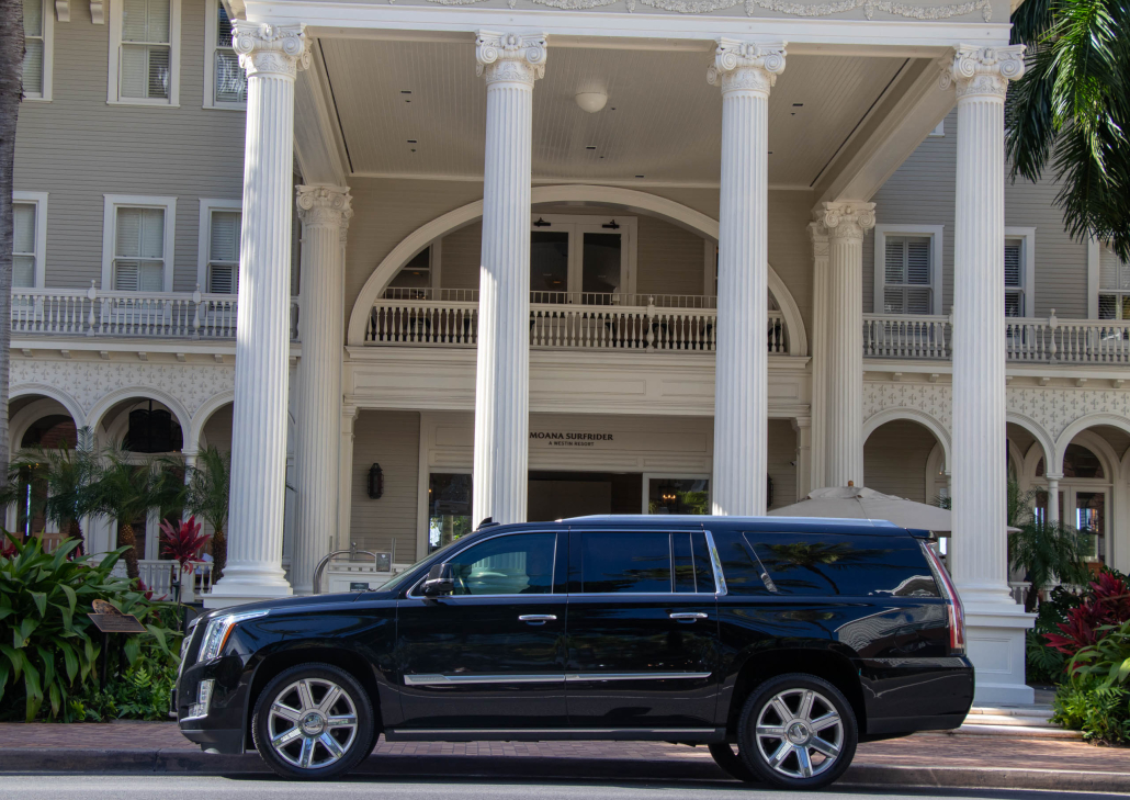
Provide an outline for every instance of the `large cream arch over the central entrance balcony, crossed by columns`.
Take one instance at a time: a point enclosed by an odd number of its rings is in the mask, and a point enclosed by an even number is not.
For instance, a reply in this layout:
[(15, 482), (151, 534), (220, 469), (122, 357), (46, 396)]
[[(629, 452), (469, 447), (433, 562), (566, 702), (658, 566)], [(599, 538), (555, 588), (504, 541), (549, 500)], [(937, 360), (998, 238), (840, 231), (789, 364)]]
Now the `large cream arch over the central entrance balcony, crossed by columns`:
[[(644, 211), (718, 241), (716, 219), (673, 200), (634, 189), (591, 185), (534, 186), (530, 205), (576, 201), (599, 202), (606, 206), (621, 206), (627, 210)], [(392, 252), (373, 270), (362, 287), (360, 294), (357, 295), (353, 312), (349, 314), (346, 341), (349, 345), (364, 344), (365, 323), (368, 320), (370, 310), (401, 267), (433, 241), (470, 225), (481, 217), (483, 201), (476, 200), (426, 223), (393, 247)], [(781, 306), (781, 314), (784, 316), (785, 330), (789, 333), (789, 355), (808, 355), (808, 334), (800, 316), (800, 307), (772, 264), (768, 268), (768, 288), (776, 298), (777, 305)]]

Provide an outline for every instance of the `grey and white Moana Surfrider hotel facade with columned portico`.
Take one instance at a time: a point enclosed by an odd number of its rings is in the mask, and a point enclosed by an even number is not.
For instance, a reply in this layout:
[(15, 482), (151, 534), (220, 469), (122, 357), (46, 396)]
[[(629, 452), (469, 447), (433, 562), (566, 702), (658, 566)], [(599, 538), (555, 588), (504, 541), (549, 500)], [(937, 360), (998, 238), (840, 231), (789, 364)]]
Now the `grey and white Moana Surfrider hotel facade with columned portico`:
[(1031, 702), (1007, 480), (1130, 569), (1130, 267), (1007, 180), (1011, 10), (25, 0), (11, 445), (231, 450), (211, 607), (487, 516), (951, 497)]

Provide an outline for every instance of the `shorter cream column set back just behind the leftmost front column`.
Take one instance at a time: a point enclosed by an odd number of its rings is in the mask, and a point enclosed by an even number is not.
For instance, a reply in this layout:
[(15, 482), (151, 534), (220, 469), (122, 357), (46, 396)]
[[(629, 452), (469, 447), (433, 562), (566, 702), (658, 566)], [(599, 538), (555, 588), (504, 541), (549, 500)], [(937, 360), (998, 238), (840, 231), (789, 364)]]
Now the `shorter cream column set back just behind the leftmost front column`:
[(347, 186), (298, 186), (302, 219), (302, 358), (295, 377), (295, 537), (290, 583), (310, 594), (314, 567), (338, 530), (338, 433), (341, 425), (341, 340), (345, 251), (353, 216)]

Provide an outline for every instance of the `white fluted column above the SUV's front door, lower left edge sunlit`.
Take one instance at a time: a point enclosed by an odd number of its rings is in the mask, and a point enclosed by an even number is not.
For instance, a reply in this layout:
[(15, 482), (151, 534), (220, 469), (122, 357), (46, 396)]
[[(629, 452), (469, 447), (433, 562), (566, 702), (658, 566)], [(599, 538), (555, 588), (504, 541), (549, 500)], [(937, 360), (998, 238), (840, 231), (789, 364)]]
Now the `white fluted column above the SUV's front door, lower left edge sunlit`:
[(530, 154), (546, 37), (480, 31), (487, 82), (472, 521), (525, 521), (530, 429)]

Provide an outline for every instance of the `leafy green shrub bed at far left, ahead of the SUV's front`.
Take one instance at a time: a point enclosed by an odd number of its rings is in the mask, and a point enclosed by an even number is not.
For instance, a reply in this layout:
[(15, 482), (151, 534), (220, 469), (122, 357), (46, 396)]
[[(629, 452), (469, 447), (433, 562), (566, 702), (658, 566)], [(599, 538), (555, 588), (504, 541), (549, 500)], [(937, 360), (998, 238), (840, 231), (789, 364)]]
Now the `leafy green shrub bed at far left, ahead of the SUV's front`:
[[(94, 562), (73, 555), (76, 540), (52, 554), (34, 537), (20, 544), (0, 531), (0, 542), (6, 545), (0, 555), (0, 719), (86, 718), (85, 712), (76, 714), (70, 701), (96, 687), (99, 656), (114, 661), (118, 654), (115, 647), (101, 652), (102, 635), (87, 617), (95, 600), (145, 625), (147, 633), (129, 636), (122, 645), (131, 667), (145, 651), (147, 659), (175, 669), (176, 609), (151, 602), (132, 581), (113, 575), (122, 549)], [(166, 710), (167, 701), (160, 711)]]

